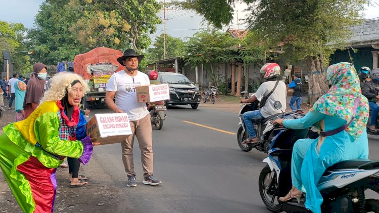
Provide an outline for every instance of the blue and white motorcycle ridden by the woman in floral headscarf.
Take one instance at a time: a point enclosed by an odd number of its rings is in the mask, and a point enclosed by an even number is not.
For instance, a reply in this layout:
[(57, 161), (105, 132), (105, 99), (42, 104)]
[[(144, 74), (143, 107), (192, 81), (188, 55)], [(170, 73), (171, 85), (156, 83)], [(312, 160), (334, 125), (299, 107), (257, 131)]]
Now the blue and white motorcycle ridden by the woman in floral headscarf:
[[(276, 109), (281, 104), (275, 104)], [(303, 115), (287, 114), (284, 119), (298, 119)], [(276, 119), (276, 118), (274, 118)], [(271, 119), (270, 121), (274, 120)], [(271, 126), (275, 138), (271, 141), (267, 165), (259, 175), (259, 193), (265, 206), (272, 212), (310, 212), (303, 202), (280, 202), (291, 189), (291, 157), (293, 145), (305, 138), (309, 129), (292, 130)], [(369, 159), (346, 160), (326, 169), (317, 187), (323, 197), (322, 212), (379, 212), (379, 200), (365, 199), (364, 191), (371, 189), (378, 193), (379, 161)], [(275, 199), (276, 198), (276, 199)], [(296, 200), (296, 199), (295, 199)]]

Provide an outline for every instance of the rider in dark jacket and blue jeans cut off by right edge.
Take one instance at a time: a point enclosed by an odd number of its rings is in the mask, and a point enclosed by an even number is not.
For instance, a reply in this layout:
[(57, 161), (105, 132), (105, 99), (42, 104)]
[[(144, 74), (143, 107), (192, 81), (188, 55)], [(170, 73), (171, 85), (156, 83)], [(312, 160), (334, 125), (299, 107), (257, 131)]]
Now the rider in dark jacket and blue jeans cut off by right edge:
[(370, 81), (366, 81), (362, 88), (362, 95), (368, 99), (368, 104), (371, 110), (371, 119), (369, 121), (370, 131), (377, 133), (376, 129), (376, 117), (379, 110), (379, 106), (376, 105), (376, 101), (379, 99), (379, 69), (372, 69), (370, 72)]

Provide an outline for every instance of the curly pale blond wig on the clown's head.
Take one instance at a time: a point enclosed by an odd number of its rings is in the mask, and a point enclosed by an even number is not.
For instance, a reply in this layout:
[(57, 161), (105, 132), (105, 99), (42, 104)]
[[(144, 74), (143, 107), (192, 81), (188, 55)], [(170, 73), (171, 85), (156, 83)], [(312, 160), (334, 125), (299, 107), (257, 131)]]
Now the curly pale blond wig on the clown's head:
[(62, 100), (65, 97), (66, 92), (71, 90), (71, 82), (74, 80), (79, 80), (83, 87), (84, 94), (89, 91), (87, 83), (80, 75), (71, 72), (60, 72), (49, 79), (49, 81), (51, 81), (51, 87), (44, 93), (40, 104), (46, 101)]

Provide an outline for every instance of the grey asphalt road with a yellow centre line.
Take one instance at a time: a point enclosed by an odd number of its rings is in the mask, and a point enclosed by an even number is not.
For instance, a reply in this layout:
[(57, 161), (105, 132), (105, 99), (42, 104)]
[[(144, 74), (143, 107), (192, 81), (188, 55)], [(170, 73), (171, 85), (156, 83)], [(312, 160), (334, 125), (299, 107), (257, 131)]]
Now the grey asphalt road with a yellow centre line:
[[(92, 110), (92, 114), (105, 112), (109, 111)], [(126, 187), (120, 145), (96, 147), (92, 173), (117, 189), (114, 212), (270, 212), (258, 191), (259, 173), (265, 166), (262, 160), (267, 155), (240, 150), (237, 113), (201, 106), (178, 106), (166, 112), (163, 129), (153, 127), (154, 173), (161, 185), (142, 183), (137, 143), (134, 188)], [(370, 158), (379, 159), (379, 141), (369, 139), (369, 146)]]

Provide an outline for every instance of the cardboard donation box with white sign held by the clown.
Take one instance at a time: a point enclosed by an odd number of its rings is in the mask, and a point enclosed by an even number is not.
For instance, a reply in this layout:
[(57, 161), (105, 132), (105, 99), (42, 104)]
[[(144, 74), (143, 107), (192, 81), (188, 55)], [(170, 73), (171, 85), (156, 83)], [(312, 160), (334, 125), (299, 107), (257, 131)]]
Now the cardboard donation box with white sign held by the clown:
[(95, 114), (86, 129), (87, 135), (97, 137), (100, 145), (120, 143), (131, 135), (127, 113)]

